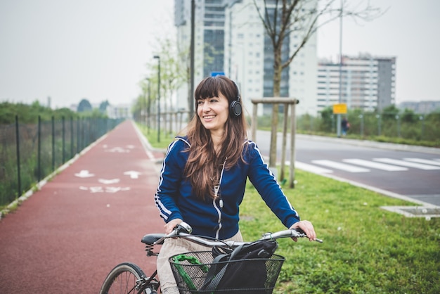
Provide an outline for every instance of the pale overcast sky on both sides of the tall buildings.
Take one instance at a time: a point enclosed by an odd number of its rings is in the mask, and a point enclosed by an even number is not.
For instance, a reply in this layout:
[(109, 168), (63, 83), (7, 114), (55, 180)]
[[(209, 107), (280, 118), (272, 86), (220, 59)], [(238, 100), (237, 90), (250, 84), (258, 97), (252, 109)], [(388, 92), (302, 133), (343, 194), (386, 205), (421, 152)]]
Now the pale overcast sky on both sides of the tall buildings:
[[(189, 0), (188, 0), (189, 1)], [(342, 53), (396, 56), (396, 101), (440, 100), (439, 0), (371, 0), (369, 23), (343, 21)], [(174, 34), (173, 0), (0, 0), (0, 101), (53, 107), (130, 103), (157, 38)], [(339, 21), (318, 33), (336, 60)]]

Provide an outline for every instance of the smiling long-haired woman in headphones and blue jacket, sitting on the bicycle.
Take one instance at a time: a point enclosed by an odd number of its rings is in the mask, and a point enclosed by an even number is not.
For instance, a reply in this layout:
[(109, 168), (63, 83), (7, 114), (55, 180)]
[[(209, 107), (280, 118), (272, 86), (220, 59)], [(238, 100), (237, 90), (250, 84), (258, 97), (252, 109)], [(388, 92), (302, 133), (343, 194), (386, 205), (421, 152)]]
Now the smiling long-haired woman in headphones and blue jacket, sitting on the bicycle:
[[(242, 241), (238, 212), (249, 178), (285, 226), (299, 227), (315, 240), (311, 222), (299, 221), (256, 144), (247, 140), (235, 82), (224, 76), (207, 77), (194, 97), (197, 115), (188, 124), (186, 136), (176, 137), (169, 145), (155, 196), (166, 222), (165, 233), (184, 221), (193, 234)], [(183, 238), (165, 240), (157, 257), (162, 293), (179, 293), (168, 258), (200, 250), (207, 248)]]

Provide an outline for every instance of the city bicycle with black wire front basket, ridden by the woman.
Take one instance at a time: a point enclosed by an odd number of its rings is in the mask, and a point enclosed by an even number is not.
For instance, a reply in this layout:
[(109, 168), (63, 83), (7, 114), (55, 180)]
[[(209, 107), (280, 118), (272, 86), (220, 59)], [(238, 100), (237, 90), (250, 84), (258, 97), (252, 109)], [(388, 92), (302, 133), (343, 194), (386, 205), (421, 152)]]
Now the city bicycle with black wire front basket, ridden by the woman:
[[(186, 238), (194, 243), (198, 243), (200, 245), (205, 245), (210, 248), (216, 248), (217, 250), (221, 250), (222, 253), (225, 251), (231, 252), (234, 248), (238, 248), (238, 246), (248, 245), (252, 242), (237, 242), (237, 241), (219, 241), (213, 240), (212, 238), (207, 238), (204, 236), (195, 236), (191, 234), (191, 227), (182, 222), (170, 234), (146, 234), (142, 238), (142, 243), (145, 243), (145, 251), (147, 252), (147, 256), (157, 256), (159, 254), (159, 250), (155, 250), (155, 245), (162, 245), (165, 238)], [(295, 230), (295, 229), (287, 229), (283, 231), (277, 231), (275, 233), (266, 233), (259, 238), (258, 241), (276, 241), (278, 238), (302, 238), (306, 237), (304, 232)], [(320, 239), (316, 239), (319, 243), (323, 241)], [(176, 277), (176, 282), (178, 283), (178, 287), (181, 293), (219, 293), (214, 290), (195, 290), (197, 286), (192, 279), (206, 279), (207, 271), (209, 271), (209, 267), (212, 267), (213, 261), (213, 252), (211, 251), (200, 251), (195, 253), (186, 253), (183, 260), (185, 262), (181, 262), (176, 260), (178, 255), (174, 255), (169, 259), (172, 263), (172, 269), (174, 271), (174, 276)], [(179, 255), (181, 256), (181, 255)], [(189, 260), (189, 262), (188, 262)], [(269, 257), (267, 259), (263, 259), (265, 262), (268, 260), (273, 260), (273, 262), (277, 262), (277, 268), (275, 267), (268, 269), (268, 271), (278, 271), (272, 275), (271, 286), (268, 289), (265, 289), (263, 293), (272, 293), (273, 286), (275, 285), (276, 279), (278, 279), (278, 274), (280, 271), (281, 264), (283, 264), (284, 257), (280, 255), (273, 254), (273, 257)], [(252, 260), (245, 260), (246, 262), (252, 262)], [(260, 259), (261, 261), (261, 259)], [(231, 262), (225, 262), (231, 263)], [(206, 267), (206, 268), (204, 268)], [(188, 268), (188, 270), (186, 270)], [(201, 270), (204, 272), (202, 276), (194, 276), (193, 268)], [(189, 279), (189, 280), (188, 280)], [(217, 281), (218, 282), (218, 281)], [(160, 281), (157, 278), (157, 270), (153, 272), (150, 276), (145, 275), (143, 270), (138, 267), (138, 265), (131, 262), (123, 262), (118, 264), (115, 268), (113, 268), (108, 276), (105, 278), (103, 285), (101, 286), (100, 294), (128, 294), (128, 293), (137, 293), (137, 294), (157, 294), (160, 290)], [(229, 290), (221, 290), (221, 293), (242, 293), (242, 290), (232, 289)], [(238, 291), (238, 292), (237, 292)]]

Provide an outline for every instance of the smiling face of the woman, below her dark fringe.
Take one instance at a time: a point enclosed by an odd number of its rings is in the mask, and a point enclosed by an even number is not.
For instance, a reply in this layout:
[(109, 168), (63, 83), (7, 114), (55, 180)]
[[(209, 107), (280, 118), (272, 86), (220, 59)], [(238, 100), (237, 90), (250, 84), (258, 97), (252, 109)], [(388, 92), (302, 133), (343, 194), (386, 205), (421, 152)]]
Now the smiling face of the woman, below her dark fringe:
[(197, 115), (203, 126), (211, 132), (224, 131), (229, 116), (229, 102), (223, 94), (219, 97), (199, 99)]

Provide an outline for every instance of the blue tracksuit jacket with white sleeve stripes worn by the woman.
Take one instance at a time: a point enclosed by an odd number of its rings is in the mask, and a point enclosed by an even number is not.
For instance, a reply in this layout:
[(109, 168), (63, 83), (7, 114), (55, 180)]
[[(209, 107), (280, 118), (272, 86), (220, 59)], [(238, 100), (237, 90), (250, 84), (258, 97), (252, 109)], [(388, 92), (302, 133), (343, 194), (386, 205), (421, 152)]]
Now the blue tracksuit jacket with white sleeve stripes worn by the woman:
[[(299, 215), (285, 197), (281, 187), (259, 152), (257, 145), (247, 141), (246, 163), (239, 164), (221, 175), (219, 199), (203, 201), (193, 196), (190, 181), (183, 176), (190, 147), (186, 137), (176, 137), (165, 155), (155, 204), (165, 222), (183, 219), (193, 227), (193, 234), (224, 240), (238, 232), (239, 205), (245, 194), (247, 177), (261, 198), (287, 227), (299, 221)], [(214, 187), (213, 187), (214, 188)], [(222, 203), (221, 203), (222, 202)]]

